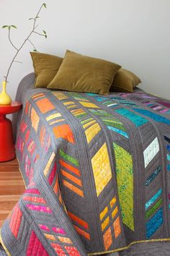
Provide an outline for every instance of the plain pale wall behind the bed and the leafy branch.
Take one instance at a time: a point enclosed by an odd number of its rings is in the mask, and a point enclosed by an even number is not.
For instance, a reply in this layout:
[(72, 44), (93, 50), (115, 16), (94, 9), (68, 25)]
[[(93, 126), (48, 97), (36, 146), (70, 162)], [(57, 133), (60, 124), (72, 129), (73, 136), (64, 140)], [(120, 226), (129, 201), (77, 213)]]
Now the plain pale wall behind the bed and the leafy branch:
[[(44, 0), (45, 1), (45, 0)], [(39, 27), (48, 39), (34, 35), (39, 51), (63, 56), (69, 48), (81, 54), (117, 62), (143, 81), (147, 92), (170, 98), (170, 0), (46, 0)], [(43, 0), (0, 0), (0, 25), (14, 24), (12, 38), (20, 45), (31, 29), (28, 19)], [(14, 64), (8, 92), (14, 95), (19, 81), (32, 72), (27, 44)], [(14, 49), (7, 31), (0, 30), (0, 77), (6, 74)]]

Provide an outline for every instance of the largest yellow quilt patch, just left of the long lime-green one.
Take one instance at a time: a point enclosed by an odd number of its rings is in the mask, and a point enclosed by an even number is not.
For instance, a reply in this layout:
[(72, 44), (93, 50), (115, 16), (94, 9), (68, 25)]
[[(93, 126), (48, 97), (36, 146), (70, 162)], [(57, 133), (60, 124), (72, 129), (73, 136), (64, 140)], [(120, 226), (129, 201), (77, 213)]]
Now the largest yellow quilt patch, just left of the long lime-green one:
[(106, 143), (97, 151), (96, 155), (91, 159), (91, 163), (98, 197), (110, 179), (112, 179)]

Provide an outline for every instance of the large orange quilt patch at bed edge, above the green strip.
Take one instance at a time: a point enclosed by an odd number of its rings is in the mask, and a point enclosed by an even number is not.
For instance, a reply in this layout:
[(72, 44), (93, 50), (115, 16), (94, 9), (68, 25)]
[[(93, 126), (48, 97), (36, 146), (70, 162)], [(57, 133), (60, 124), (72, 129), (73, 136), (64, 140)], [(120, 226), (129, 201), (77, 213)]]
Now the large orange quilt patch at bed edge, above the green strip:
[(53, 127), (53, 132), (56, 139), (63, 138), (68, 140), (71, 143), (74, 143), (73, 133), (68, 124), (63, 124), (58, 127)]

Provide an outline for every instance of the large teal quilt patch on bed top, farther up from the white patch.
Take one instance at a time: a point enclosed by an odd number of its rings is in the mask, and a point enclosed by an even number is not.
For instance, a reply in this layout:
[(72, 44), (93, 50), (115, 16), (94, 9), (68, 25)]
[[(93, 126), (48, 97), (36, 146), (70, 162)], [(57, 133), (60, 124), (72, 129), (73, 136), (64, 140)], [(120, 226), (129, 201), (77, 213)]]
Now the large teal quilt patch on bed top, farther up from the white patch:
[(115, 112), (122, 116), (125, 116), (126, 118), (130, 119), (130, 121), (133, 121), (136, 127), (140, 127), (140, 125), (148, 123), (147, 119), (129, 111), (128, 109), (120, 108), (115, 110)]

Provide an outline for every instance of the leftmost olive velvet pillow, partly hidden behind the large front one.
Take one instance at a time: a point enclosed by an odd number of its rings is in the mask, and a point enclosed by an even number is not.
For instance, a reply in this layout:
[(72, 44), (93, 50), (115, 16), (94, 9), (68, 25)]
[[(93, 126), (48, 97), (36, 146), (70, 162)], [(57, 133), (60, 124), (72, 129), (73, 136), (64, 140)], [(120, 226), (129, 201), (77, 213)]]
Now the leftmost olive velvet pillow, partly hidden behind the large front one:
[(58, 72), (63, 58), (38, 52), (31, 52), (30, 54), (35, 69), (35, 88), (47, 88)]

